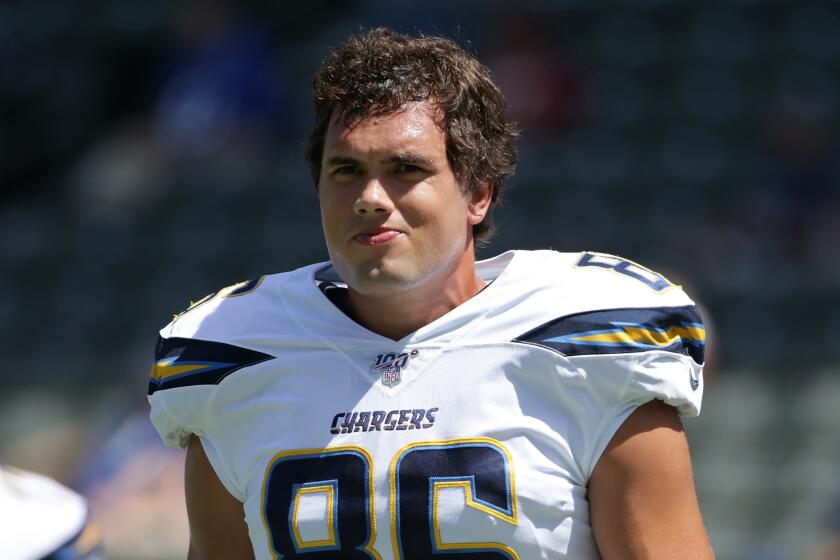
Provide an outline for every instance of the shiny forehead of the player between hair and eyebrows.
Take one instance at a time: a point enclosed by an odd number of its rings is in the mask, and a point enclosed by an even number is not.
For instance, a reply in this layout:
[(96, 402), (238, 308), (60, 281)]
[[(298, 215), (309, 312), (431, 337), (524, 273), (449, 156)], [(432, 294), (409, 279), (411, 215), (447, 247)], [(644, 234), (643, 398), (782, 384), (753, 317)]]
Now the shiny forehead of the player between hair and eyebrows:
[(403, 105), (399, 111), (345, 122), (339, 112), (330, 119), (324, 156), (336, 153), (376, 154), (406, 150), (445, 156), (446, 142), (437, 108), (429, 101)]

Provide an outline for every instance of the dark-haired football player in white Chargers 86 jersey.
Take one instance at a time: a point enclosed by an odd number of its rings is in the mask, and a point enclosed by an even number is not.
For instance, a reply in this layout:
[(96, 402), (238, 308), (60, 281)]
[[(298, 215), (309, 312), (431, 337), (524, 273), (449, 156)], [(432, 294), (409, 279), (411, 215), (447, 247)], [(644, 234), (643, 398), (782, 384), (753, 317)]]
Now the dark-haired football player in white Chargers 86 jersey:
[(687, 296), (598, 253), (476, 263), (516, 134), (454, 43), (352, 37), (314, 90), (330, 262), (158, 342), (191, 558), (711, 558), (677, 416), (702, 392)]

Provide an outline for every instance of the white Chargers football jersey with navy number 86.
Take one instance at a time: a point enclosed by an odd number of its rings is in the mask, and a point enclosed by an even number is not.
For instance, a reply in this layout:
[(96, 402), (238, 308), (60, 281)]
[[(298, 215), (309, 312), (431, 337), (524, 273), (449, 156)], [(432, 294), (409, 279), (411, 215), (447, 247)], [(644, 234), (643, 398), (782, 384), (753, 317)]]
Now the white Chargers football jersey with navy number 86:
[(201, 438), (258, 559), (598, 558), (589, 477), (641, 404), (699, 413), (701, 320), (610, 255), (513, 251), (478, 272), (487, 288), (399, 341), (332, 303), (328, 263), (160, 332), (152, 421), (169, 445)]

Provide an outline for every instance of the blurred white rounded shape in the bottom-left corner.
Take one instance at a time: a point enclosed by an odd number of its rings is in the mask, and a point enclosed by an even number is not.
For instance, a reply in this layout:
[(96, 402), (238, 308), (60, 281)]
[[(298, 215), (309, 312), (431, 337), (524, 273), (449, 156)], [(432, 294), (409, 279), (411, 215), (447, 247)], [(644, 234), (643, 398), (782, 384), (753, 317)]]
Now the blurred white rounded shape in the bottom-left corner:
[(95, 558), (84, 498), (45, 476), (0, 466), (0, 527), (4, 560)]

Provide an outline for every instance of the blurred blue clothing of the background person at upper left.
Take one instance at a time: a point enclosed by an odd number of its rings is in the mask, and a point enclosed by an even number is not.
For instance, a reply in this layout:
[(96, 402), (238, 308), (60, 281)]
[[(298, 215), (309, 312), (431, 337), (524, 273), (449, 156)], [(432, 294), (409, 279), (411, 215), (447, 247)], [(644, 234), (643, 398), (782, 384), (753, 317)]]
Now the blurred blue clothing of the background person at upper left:
[(153, 129), (176, 161), (253, 158), (250, 152), (263, 155), (273, 135), (296, 132), (267, 30), (240, 9), (200, 0), (183, 2), (175, 14)]

